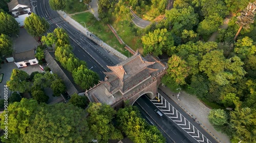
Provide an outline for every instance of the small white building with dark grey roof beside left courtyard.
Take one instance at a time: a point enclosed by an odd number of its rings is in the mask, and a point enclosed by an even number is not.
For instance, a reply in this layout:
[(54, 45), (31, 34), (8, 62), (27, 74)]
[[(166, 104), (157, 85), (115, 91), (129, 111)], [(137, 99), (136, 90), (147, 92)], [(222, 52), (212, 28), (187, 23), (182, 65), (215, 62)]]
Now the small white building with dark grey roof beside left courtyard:
[(33, 49), (24, 52), (13, 53), (13, 57), (15, 60), (14, 63), (18, 68), (38, 64), (38, 61), (35, 58), (35, 51)]

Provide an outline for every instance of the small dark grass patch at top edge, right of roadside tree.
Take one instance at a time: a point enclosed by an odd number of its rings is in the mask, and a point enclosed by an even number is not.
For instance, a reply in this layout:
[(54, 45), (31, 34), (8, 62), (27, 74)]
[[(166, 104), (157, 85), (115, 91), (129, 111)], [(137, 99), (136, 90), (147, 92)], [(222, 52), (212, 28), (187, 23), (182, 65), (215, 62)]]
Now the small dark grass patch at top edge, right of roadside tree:
[(76, 1), (68, 1), (67, 7), (64, 9), (64, 11), (67, 14), (77, 13), (77, 12), (83, 12), (88, 10), (87, 5), (84, 5), (83, 2), (79, 2), (79, 0)]

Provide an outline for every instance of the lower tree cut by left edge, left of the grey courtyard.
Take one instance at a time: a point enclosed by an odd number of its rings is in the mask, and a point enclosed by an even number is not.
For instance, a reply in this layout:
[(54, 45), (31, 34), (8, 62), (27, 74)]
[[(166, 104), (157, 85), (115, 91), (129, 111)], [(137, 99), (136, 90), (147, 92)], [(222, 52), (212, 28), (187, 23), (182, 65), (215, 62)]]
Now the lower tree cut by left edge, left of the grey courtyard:
[(0, 56), (9, 56), (12, 55), (12, 41), (11, 39), (4, 34), (0, 35)]

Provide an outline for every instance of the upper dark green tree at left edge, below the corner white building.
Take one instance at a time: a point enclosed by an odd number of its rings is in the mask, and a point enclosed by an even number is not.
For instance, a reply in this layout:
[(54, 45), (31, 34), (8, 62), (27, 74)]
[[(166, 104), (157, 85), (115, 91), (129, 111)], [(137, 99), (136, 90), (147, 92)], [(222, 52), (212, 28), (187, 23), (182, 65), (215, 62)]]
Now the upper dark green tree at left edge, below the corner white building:
[(13, 16), (5, 12), (0, 12), (0, 25), (0, 34), (16, 35), (19, 32), (18, 22)]

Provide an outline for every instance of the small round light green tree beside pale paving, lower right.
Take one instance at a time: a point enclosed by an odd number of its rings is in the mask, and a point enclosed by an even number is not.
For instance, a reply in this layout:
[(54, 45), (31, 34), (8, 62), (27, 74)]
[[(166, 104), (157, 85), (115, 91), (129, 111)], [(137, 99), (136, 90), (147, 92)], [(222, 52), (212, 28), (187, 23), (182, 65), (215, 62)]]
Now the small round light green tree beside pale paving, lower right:
[(212, 125), (224, 125), (227, 123), (227, 113), (223, 109), (211, 109), (208, 118)]

